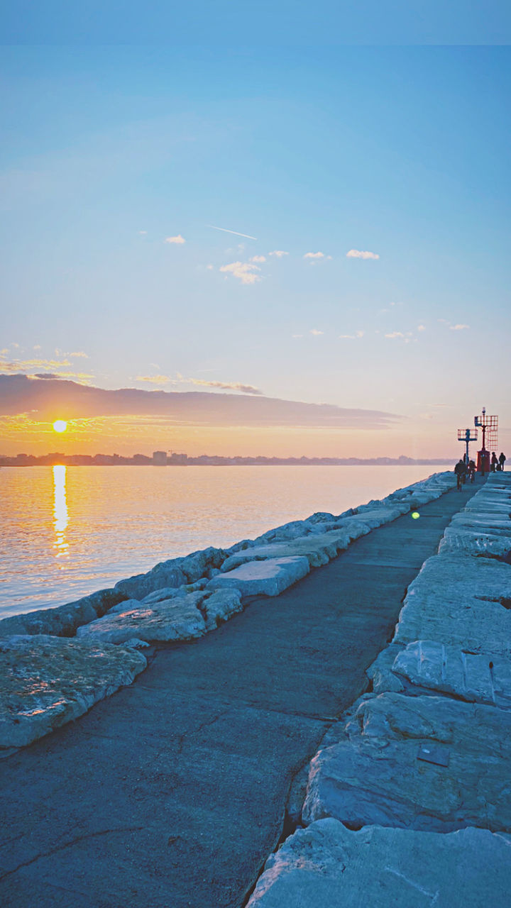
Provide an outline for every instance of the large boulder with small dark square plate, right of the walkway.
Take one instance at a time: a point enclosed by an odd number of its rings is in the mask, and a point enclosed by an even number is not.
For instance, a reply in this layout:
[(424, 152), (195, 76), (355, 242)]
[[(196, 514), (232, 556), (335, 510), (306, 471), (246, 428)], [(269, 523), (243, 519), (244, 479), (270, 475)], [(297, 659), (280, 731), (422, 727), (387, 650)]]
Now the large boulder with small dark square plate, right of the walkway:
[(511, 831), (511, 713), (446, 696), (365, 699), (311, 762), (303, 820)]

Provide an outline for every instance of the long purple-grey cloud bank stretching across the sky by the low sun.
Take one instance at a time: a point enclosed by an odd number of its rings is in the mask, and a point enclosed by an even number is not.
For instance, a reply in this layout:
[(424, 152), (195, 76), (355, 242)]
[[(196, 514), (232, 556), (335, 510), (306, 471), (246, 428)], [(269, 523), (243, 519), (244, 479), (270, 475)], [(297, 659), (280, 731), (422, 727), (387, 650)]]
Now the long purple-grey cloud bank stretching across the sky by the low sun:
[[(244, 387), (250, 386), (239, 386)], [(176, 425), (388, 429), (403, 419), (382, 410), (279, 400), (254, 392), (240, 396), (210, 391), (105, 390), (75, 381), (31, 380), (19, 374), (0, 376), (0, 417), (30, 411), (37, 419), (46, 420), (55, 419), (55, 411), (62, 414), (62, 419), (160, 416), (168, 429)]]

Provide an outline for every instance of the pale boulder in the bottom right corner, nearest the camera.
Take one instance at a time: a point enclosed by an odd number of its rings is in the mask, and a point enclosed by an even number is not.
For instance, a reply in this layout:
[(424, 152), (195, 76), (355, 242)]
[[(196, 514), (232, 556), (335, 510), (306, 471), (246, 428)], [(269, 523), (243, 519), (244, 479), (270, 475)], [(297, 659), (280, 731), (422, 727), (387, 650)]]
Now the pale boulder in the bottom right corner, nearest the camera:
[(511, 844), (484, 829), (446, 835), (318, 820), (266, 862), (247, 908), (481, 908), (511, 904)]

